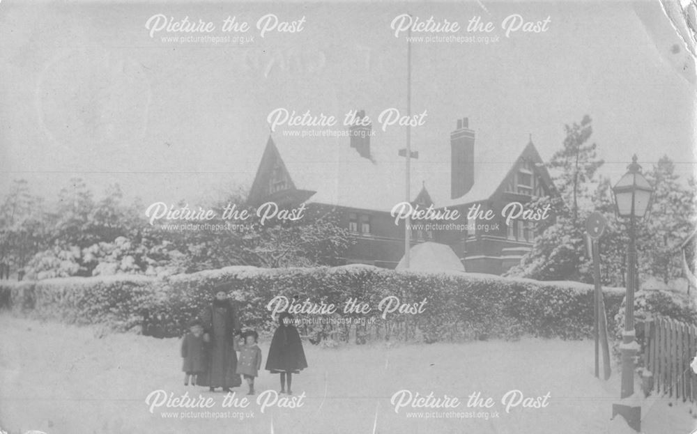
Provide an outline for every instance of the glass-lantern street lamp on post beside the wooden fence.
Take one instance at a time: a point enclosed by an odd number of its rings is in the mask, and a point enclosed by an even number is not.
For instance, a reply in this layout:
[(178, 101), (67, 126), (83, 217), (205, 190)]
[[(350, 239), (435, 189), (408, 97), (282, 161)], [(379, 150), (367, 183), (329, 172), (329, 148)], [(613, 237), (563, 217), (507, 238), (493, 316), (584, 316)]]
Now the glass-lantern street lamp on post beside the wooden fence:
[[(634, 357), (638, 351), (634, 336), (634, 292), (636, 292), (636, 219), (643, 218), (651, 205), (653, 189), (641, 174), (641, 166), (636, 155), (631, 157), (627, 173), (612, 189), (615, 196), (615, 211), (618, 217), (629, 218), (629, 245), (627, 246), (627, 297), (625, 304), (625, 331), (622, 333), (622, 391), (620, 398), (634, 394)], [(629, 426), (639, 431), (641, 408), (627, 405), (613, 405), (613, 416), (622, 414)], [(636, 425), (635, 425), (636, 424)]]

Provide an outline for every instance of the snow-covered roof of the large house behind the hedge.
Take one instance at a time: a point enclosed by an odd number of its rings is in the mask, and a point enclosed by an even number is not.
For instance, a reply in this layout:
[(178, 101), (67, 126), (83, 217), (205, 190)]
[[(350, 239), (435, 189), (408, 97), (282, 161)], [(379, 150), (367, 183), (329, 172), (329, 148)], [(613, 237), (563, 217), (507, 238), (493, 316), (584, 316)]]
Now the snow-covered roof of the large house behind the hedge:
[[(540, 176), (552, 185), (532, 142), (527, 146), (494, 146), (475, 140), (474, 185), (464, 196), (451, 199), (449, 134), (443, 137), (439, 146), (421, 148), (419, 158), (411, 160), (410, 202), (423, 195), (424, 190), (437, 208), (485, 201), (503, 188), (503, 181), (521, 157), (538, 162)], [(400, 145), (372, 143), (369, 160), (351, 148), (348, 137), (269, 137), (250, 196), (264, 184), (259, 179), (264, 160), (277, 153), (294, 187), (314, 192), (308, 202), (390, 211), (395, 204), (406, 201), (406, 162), (397, 155), (403, 147)]]

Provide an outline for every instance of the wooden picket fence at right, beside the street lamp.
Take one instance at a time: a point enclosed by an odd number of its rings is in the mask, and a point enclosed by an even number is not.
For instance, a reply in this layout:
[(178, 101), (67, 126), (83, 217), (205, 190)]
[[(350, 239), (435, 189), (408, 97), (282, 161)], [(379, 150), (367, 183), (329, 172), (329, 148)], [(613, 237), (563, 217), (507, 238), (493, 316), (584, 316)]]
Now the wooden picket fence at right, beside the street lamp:
[(697, 374), (690, 367), (697, 351), (697, 326), (658, 317), (644, 327), (643, 362), (652, 373), (645, 392), (697, 402)]

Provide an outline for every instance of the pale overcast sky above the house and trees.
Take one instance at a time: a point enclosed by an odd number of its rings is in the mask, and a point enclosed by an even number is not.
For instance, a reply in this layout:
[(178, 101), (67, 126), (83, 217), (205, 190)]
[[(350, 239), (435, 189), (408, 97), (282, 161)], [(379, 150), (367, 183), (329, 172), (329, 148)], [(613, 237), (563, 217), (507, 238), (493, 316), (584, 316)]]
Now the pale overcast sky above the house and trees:
[[(119, 183), (146, 203), (202, 203), (249, 187), (279, 107), (327, 114), (406, 111), (406, 40), (392, 20), (411, 13), (493, 22), (492, 42), (415, 42), (412, 111), (420, 152), (450, 157), (449, 134), (468, 116), (477, 146), (533, 141), (547, 160), (563, 125), (593, 118), (593, 141), (619, 178), (632, 153), (645, 167), (661, 155), (693, 173), (695, 77), (657, 2), (542, 3), (0, 3), (0, 194), (26, 178), (51, 199), (73, 176), (99, 196)], [(248, 22), (233, 42), (163, 42), (153, 15)], [(305, 17), (302, 31), (259, 36), (266, 14)], [(519, 14), (547, 17), (544, 33), (505, 36)], [(174, 35), (175, 33), (169, 33)], [(187, 33), (194, 34), (194, 33)], [(484, 35), (485, 33), (481, 33)], [(422, 36), (429, 36), (424, 33)], [(441, 36), (445, 36), (441, 34)], [(498, 36), (498, 40), (494, 38)], [(340, 128), (340, 127), (339, 127)], [(373, 146), (403, 146), (405, 130), (378, 131)], [(274, 139), (283, 137), (275, 132)], [(321, 145), (319, 145), (321, 146)], [(512, 156), (514, 157), (514, 156)], [(292, 175), (292, 174), (291, 174)]]

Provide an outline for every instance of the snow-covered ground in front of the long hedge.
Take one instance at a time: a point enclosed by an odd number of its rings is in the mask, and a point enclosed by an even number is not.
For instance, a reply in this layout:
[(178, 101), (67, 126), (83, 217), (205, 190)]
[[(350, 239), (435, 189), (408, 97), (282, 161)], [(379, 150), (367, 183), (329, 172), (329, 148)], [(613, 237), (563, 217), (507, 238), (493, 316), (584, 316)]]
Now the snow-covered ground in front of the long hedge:
[[(0, 429), (10, 434), (40, 430), (82, 433), (634, 433), (620, 417), (618, 373), (609, 382), (592, 375), (591, 341), (524, 339), (464, 344), (375, 344), (318, 348), (306, 344), (309, 369), (294, 376), (303, 392), (298, 408), (222, 409), (221, 392), (185, 387), (178, 339), (107, 334), (94, 327), (0, 314)], [(260, 346), (264, 356), (267, 342)], [(256, 389), (277, 390), (278, 375), (261, 373)], [(146, 396), (157, 389), (179, 396), (213, 397), (213, 419), (192, 417), (204, 410), (155, 408)], [(390, 404), (392, 394), (457, 396), (462, 403), (438, 412), (474, 417), (424, 419), (422, 408)], [(549, 392), (545, 408), (505, 412), (501, 397), (512, 389), (537, 398)], [(233, 389), (237, 397), (246, 389)], [(492, 397), (490, 409), (467, 408), (473, 392)], [(270, 392), (269, 392), (270, 393)], [(539, 402), (539, 401), (538, 401)], [(668, 405), (672, 404), (672, 405)], [(690, 406), (665, 398), (643, 401), (642, 426), (648, 434), (686, 434), (697, 428)], [(693, 406), (697, 409), (696, 406)], [(187, 411), (190, 417), (181, 417)], [(420, 416), (410, 416), (409, 412)], [(484, 417), (484, 411), (498, 417)], [(254, 417), (251, 417), (251, 413)], [(176, 418), (165, 417), (175, 413)], [(245, 416), (233, 417), (237, 414)], [(481, 414), (478, 414), (481, 413)], [(479, 417), (477, 417), (477, 414)]]

